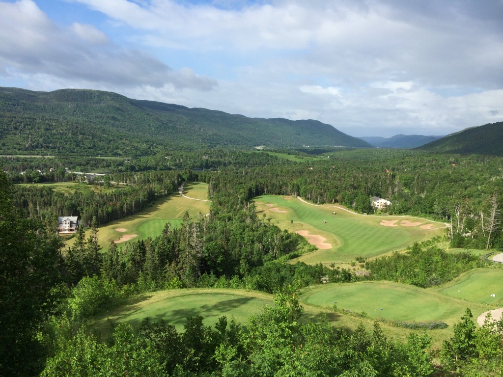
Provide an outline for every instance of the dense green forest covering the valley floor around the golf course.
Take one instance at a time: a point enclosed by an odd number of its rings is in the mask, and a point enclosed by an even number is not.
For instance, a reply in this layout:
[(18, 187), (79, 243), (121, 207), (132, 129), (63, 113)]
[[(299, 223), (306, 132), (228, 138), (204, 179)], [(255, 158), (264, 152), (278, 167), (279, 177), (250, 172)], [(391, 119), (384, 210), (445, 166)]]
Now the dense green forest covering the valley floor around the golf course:
[[(453, 247), (498, 250), (503, 248), (501, 157), (313, 148), (1, 161), (7, 173), (0, 173), (5, 198), (0, 203), (0, 375), (501, 373), (502, 323), (476, 328), (467, 311), (435, 353), (427, 334), (411, 333), (401, 341), (388, 338), (378, 323), (372, 331), (361, 326), (351, 332), (305, 320), (295, 295), (322, 281), (351, 284), (397, 276), (407, 276), (404, 284), (438, 286), (487, 262), (470, 253), (446, 253), (433, 240), (366, 261), (367, 274), (289, 263), (313, 246), (270, 224), (253, 204), (258, 196), (275, 194), (338, 203), (360, 213), (420, 215), (452, 225), (445, 237)], [(76, 179), (69, 171), (106, 175), (75, 192), (13, 184)], [(208, 216), (186, 214), (181, 227), (168, 223), (156, 238), (101, 250), (99, 225), (177, 192), (183, 181), (208, 183)], [(374, 211), (372, 196), (392, 204)], [(73, 246), (63, 247), (55, 218), (69, 214), (80, 216), (91, 236), (86, 239), (81, 227)], [(196, 287), (273, 293), (276, 305), (247, 323), (222, 317), (206, 327), (201, 317), (189, 317), (184, 332), (145, 321), (139, 330), (119, 325), (102, 339), (87, 327), (93, 316), (136, 294)], [(20, 289), (26, 294), (17, 295)]]

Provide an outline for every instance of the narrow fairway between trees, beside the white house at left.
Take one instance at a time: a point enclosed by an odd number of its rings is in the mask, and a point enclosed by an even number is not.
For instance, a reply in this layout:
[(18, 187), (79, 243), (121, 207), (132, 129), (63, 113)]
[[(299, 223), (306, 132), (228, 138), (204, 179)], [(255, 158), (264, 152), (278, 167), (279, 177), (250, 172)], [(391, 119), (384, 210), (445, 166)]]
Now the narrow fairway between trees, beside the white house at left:
[[(192, 191), (192, 187), (195, 187), (195, 191)], [(184, 187), (184, 194), (190, 198), (195, 198), (201, 196), (201, 192), (207, 190), (207, 187), (206, 183), (189, 183)], [(98, 241), (103, 249), (106, 250), (111, 241), (118, 241), (121, 237), (129, 238), (131, 241), (148, 237), (154, 238), (161, 234), (164, 225), (168, 222), (173, 227), (180, 227), (186, 211), (193, 219), (197, 219), (200, 213), (206, 215), (210, 212), (210, 204), (209, 202), (192, 200), (184, 198), (179, 194), (173, 194), (157, 201), (152, 207), (136, 215), (113, 221), (106, 226), (100, 227), (98, 229)], [(88, 230), (86, 232), (86, 239), (89, 234), (90, 231)], [(75, 238), (72, 238), (67, 241), (67, 244), (72, 246), (74, 242)], [(127, 241), (119, 242), (118, 246), (123, 246), (125, 242)]]

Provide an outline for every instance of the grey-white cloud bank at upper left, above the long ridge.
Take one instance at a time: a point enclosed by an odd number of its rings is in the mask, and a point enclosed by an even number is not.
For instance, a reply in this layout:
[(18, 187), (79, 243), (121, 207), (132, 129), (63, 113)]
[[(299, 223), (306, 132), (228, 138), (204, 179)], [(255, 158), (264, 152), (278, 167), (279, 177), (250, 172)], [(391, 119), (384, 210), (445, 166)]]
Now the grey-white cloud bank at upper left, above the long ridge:
[(107, 43), (107, 36), (94, 26), (73, 23), (60, 28), (31, 0), (0, 2), (0, 41), (0, 71), (10, 79), (24, 76), (37, 82), (39, 77), (53, 77), (68, 87), (77, 82), (86, 87), (172, 83), (179, 89), (208, 90), (216, 84), (190, 68), (175, 71), (144, 50)]

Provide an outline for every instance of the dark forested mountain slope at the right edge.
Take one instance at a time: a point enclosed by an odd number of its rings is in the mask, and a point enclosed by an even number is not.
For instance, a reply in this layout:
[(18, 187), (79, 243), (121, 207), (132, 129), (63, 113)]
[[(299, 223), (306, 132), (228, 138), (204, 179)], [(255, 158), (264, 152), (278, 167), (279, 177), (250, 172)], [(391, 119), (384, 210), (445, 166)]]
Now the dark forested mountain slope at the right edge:
[(503, 122), (488, 123), (447, 135), (419, 149), (435, 153), (503, 155)]

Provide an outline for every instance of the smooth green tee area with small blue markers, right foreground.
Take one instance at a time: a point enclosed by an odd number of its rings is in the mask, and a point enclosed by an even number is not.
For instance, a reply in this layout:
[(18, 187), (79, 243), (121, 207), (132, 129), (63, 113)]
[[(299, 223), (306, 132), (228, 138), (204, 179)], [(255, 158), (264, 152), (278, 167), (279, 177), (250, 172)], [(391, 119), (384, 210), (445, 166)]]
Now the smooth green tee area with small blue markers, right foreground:
[(327, 284), (306, 289), (299, 300), (310, 305), (365, 312), (372, 319), (388, 321), (442, 321), (452, 325), (466, 308), (474, 316), (492, 307), (451, 298), (422, 288), (390, 281)]

